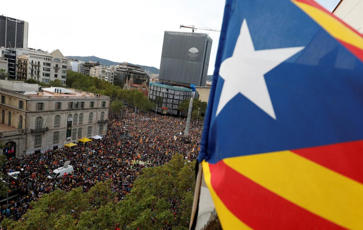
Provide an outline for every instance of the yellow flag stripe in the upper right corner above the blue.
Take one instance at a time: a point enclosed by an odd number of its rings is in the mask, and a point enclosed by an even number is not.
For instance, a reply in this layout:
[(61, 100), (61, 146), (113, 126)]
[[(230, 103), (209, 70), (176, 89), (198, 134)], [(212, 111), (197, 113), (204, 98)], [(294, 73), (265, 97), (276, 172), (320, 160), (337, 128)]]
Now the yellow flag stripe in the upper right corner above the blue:
[(323, 27), (331, 36), (335, 37), (335, 39), (342, 40), (348, 44), (363, 49), (363, 38), (344, 25), (341, 21), (336, 19), (333, 15), (306, 3), (294, 0), (291, 1), (314, 19), (314, 21)]

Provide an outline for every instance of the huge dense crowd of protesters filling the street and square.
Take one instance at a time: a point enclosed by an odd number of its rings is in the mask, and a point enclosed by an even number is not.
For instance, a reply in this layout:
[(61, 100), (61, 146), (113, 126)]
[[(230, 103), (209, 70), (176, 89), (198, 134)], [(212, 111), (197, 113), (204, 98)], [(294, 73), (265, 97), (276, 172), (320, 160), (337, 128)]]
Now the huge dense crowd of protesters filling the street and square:
[[(22, 215), (32, 208), (30, 202), (58, 188), (70, 191), (82, 186), (83, 191), (88, 191), (96, 182), (107, 179), (112, 180), (111, 187), (120, 201), (130, 193), (143, 167), (165, 164), (174, 153), (184, 154), (188, 160), (196, 159), (200, 149), (202, 122), (191, 122), (189, 138), (185, 140), (185, 118), (159, 114), (155, 117), (152, 113), (139, 112), (134, 122), (134, 116), (132, 108), (124, 109), (122, 118), (120, 113), (110, 111), (107, 131), (102, 140), (8, 159), (1, 170), (5, 175), (20, 171), (17, 179), (9, 181), (9, 190), (17, 191), (19, 196), (9, 201), (8, 208), (6, 205), (0, 206), (1, 220), (23, 219)], [(131, 137), (126, 137), (123, 142), (125, 132)], [(89, 152), (91, 154), (87, 156), (87, 149), (94, 152)], [(67, 160), (74, 168), (72, 172), (60, 178), (48, 178), (54, 169), (62, 167)], [(28, 178), (32, 179), (32, 183), (28, 183)], [(171, 200), (174, 215), (178, 203), (177, 200)]]

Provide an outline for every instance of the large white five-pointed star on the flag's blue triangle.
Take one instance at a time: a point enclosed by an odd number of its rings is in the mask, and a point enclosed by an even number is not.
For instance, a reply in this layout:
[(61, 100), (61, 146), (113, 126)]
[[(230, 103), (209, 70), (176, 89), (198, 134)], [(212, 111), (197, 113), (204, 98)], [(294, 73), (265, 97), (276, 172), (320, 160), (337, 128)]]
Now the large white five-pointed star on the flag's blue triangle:
[(216, 116), (223, 107), (241, 93), (273, 119), (276, 119), (264, 74), (301, 51), (304, 47), (255, 50), (246, 20), (232, 57), (221, 64), (219, 75), (224, 79)]

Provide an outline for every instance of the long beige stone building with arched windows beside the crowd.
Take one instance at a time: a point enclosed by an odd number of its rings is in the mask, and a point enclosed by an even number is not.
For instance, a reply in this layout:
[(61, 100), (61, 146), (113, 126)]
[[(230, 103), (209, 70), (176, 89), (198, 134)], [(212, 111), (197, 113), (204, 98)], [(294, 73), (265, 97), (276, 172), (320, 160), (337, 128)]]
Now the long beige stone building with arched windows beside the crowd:
[(0, 142), (13, 142), (14, 156), (60, 148), (107, 132), (108, 96), (62, 87), (23, 93), (0, 88), (0, 96), (5, 97), (5, 103), (0, 103)]

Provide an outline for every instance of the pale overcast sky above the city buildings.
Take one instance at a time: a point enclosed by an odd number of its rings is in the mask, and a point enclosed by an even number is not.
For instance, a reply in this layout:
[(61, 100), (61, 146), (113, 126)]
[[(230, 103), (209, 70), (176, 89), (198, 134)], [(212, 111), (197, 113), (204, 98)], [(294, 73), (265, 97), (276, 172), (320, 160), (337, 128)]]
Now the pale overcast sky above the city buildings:
[[(317, 0), (332, 11), (339, 0)], [(1, 1), (0, 14), (29, 22), (28, 47), (64, 56), (97, 56), (114, 62), (160, 67), (164, 31), (179, 24), (217, 28), (223, 0)], [(208, 74), (213, 74), (219, 32), (213, 39)]]

